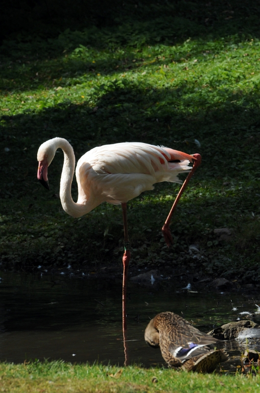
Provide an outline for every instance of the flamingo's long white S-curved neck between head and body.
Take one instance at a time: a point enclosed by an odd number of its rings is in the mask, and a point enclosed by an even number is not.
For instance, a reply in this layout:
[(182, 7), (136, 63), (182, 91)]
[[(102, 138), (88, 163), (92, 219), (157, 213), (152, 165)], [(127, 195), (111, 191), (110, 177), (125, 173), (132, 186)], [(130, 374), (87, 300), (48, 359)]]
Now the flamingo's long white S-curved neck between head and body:
[(60, 198), (63, 209), (72, 217), (81, 217), (84, 214), (89, 213), (96, 204), (93, 201), (85, 201), (84, 204), (75, 203), (71, 197), (71, 183), (73, 180), (74, 169), (75, 169), (75, 156), (70, 143), (63, 138), (56, 139), (56, 148), (59, 147), (64, 152), (64, 164), (61, 174), (60, 184)]

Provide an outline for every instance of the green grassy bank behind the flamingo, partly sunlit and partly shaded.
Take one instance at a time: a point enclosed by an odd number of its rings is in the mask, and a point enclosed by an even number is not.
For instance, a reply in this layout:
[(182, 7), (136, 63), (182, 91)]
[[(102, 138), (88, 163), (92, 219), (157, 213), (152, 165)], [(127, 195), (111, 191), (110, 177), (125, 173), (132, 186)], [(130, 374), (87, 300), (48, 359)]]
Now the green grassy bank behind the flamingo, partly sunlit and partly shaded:
[[(41, 34), (24, 31), (3, 42), (1, 263), (24, 270), (120, 264), (120, 207), (104, 204), (81, 219), (66, 215), (58, 199), (63, 155), (57, 153), (49, 168), (47, 192), (36, 178), (37, 150), (59, 136), (71, 141), (78, 159), (96, 145), (142, 141), (198, 152), (203, 164), (177, 209), (171, 249), (160, 228), (179, 186), (156, 185), (129, 203), (132, 262), (186, 263), (207, 274), (258, 281), (255, 5), (143, 4), (136, 10), (126, 2), (121, 16), (115, 10), (111, 26), (67, 26), (49, 35), (43, 28)], [(72, 196), (76, 199), (75, 183)], [(230, 243), (213, 232), (223, 227), (233, 229)], [(199, 246), (203, 259), (188, 253), (190, 244)]]

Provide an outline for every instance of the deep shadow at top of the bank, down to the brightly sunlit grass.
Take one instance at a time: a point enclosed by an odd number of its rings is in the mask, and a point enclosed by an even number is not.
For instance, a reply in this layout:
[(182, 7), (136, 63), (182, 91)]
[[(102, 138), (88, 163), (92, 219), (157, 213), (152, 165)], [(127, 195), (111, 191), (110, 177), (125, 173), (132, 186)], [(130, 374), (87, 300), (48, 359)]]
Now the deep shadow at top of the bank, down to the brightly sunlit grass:
[[(57, 57), (79, 45), (95, 49), (172, 45), (187, 38), (259, 37), (255, 1), (6, 1), (1, 53), (13, 58)], [(49, 4), (48, 4), (49, 3)], [(73, 31), (76, 30), (76, 31)]]

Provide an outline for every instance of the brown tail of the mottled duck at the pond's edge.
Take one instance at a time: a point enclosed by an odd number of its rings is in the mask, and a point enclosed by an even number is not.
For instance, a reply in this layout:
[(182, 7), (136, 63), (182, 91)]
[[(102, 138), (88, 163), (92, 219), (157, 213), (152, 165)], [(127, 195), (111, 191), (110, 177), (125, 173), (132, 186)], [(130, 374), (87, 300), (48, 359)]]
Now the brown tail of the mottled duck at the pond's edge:
[(183, 368), (187, 371), (210, 373), (214, 371), (220, 362), (226, 362), (228, 358), (229, 355), (226, 351), (224, 351), (224, 349), (212, 350), (205, 355), (200, 356), (196, 361), (194, 361), (194, 358), (189, 359), (184, 363)]

